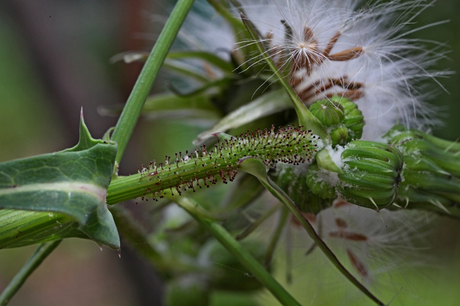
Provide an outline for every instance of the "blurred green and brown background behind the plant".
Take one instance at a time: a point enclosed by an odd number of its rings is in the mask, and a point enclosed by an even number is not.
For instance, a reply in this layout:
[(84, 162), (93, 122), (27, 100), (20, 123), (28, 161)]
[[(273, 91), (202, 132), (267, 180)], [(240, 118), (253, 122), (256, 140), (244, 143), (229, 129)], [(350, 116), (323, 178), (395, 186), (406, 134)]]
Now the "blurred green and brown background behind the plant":
[[(75, 145), (81, 107), (89, 131), (95, 138), (102, 137), (116, 118), (100, 116), (98, 107), (124, 103), (142, 67), (135, 63), (111, 64), (109, 59), (127, 50), (149, 50), (162, 26), (161, 16), (169, 10), (167, 2), (147, 0), (2, 1), (0, 161)], [(459, 11), (458, 0), (439, 1), (413, 25), (451, 20), (417, 33), (417, 37), (445, 42), (451, 49), (451, 60), (440, 61), (434, 69), (460, 71)], [(460, 76), (453, 74), (442, 84), (448, 92), (440, 90), (433, 103), (444, 109), (445, 125), (433, 132), (454, 140), (460, 136)], [(165, 90), (161, 81), (155, 86), (155, 91)], [(202, 130), (204, 127), (180, 121), (141, 119), (124, 156), (121, 174), (134, 173), (152, 157), (191, 148), (191, 140)], [(128, 206), (140, 218), (147, 214), (143, 203)], [(436, 265), (404, 272), (411, 293), (392, 305), (455, 305), (460, 299), (459, 223), (438, 218), (432, 224), (427, 237), (431, 249), (427, 252)], [(0, 250), (0, 290), (33, 249)], [(159, 305), (162, 286), (154, 270), (123, 242), (121, 253), (119, 259), (116, 252), (106, 248), (101, 252), (93, 242), (64, 241), (10, 304)], [(316, 267), (309, 276), (314, 268), (307, 268), (308, 259), (303, 261), (296, 265), (301, 276), (292, 288), (308, 295), (304, 299), (307, 304), (348, 304), (342, 297), (357, 295), (332, 267)], [(325, 279), (332, 275), (332, 281), (318, 282), (317, 277), (323, 275)], [(410, 296), (417, 298), (412, 300)], [(263, 303), (269, 300), (264, 294)], [(360, 305), (369, 304), (360, 301)]]

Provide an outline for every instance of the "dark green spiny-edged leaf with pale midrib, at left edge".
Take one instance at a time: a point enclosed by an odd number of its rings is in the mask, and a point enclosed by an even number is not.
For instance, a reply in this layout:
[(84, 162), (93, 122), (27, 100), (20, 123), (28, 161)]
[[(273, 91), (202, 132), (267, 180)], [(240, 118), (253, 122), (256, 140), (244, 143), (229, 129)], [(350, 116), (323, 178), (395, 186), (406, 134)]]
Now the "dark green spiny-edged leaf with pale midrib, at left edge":
[[(116, 154), (116, 143), (91, 138), (81, 116), (80, 141), (75, 147), (53, 154), (0, 163), (0, 208), (65, 214), (77, 221), (79, 230), (91, 239), (118, 248), (120, 238), (117, 227), (105, 202)], [(13, 215), (14, 212), (11, 212), (9, 216)], [(43, 217), (26, 215), (23, 213), (16, 216), (25, 221), (25, 227), (31, 221)], [(16, 235), (17, 238), (10, 238), (27, 240), (22, 245), (46, 241), (47, 235), (41, 233), (46, 232), (47, 223), (44, 220), (43, 227), (34, 223), (35, 234), (29, 232), (27, 237)], [(17, 227), (18, 224), (0, 227), (0, 237), (5, 237), (11, 226)], [(71, 223), (68, 226), (72, 228)], [(65, 231), (59, 232), (53, 233), (55, 239), (69, 235)]]

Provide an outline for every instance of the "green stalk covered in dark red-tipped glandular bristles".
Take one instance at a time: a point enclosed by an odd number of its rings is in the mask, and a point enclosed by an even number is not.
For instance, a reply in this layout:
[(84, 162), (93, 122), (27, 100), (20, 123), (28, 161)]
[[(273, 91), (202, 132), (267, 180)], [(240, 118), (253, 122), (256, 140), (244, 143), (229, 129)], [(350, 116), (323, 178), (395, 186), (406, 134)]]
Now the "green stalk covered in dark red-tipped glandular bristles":
[(219, 140), (208, 150), (185, 151), (167, 156), (162, 162), (151, 161), (140, 173), (114, 180), (108, 189), (107, 203), (146, 196), (161, 198), (166, 191), (181, 194), (183, 190), (209, 187), (218, 181), (233, 181), (244, 157), (256, 157), (266, 167), (278, 162), (310, 163), (323, 142), (311, 131), (287, 127), (275, 131), (258, 130), (232, 137), (217, 133)]

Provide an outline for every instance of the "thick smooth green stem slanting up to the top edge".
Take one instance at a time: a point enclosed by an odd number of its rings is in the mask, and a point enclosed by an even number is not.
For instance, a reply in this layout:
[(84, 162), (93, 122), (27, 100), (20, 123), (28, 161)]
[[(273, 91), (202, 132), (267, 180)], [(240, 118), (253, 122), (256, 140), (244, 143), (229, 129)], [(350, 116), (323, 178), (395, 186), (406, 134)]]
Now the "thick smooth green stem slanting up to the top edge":
[(134, 84), (112, 134), (112, 140), (118, 143), (116, 165), (120, 164), (153, 82), (192, 4), (193, 0), (178, 0)]

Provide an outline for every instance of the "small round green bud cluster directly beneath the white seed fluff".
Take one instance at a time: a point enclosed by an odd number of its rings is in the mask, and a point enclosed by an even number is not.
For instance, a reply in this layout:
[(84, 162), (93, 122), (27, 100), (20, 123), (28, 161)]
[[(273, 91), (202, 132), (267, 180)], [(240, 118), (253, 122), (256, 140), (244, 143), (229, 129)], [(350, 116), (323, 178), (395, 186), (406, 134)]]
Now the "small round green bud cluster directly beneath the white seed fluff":
[(348, 98), (334, 95), (317, 100), (310, 106), (310, 112), (326, 127), (333, 146), (361, 138), (364, 116)]

